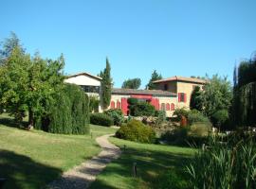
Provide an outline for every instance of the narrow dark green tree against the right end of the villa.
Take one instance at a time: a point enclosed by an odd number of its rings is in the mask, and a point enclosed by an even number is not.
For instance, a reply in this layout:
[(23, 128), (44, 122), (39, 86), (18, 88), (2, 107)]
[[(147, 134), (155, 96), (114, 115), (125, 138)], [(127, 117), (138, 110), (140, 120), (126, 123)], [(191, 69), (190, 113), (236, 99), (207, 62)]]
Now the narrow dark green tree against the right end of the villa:
[(202, 92), (199, 86), (195, 86), (195, 88), (192, 90), (190, 108), (191, 110), (195, 109), (197, 111), (203, 110)]

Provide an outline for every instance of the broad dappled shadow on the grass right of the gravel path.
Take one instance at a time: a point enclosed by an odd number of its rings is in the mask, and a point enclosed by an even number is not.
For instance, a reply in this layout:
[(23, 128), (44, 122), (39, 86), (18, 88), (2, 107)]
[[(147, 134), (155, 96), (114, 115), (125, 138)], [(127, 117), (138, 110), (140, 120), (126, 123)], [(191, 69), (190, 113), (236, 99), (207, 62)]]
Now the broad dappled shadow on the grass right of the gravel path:
[[(168, 170), (181, 173), (179, 179), (186, 180), (183, 169), (189, 160), (190, 156), (185, 154), (127, 147), (118, 160), (103, 170), (90, 188), (158, 188), (159, 179)], [(137, 163), (137, 178), (134, 178), (134, 163)], [(123, 186), (115, 182), (123, 182)]]

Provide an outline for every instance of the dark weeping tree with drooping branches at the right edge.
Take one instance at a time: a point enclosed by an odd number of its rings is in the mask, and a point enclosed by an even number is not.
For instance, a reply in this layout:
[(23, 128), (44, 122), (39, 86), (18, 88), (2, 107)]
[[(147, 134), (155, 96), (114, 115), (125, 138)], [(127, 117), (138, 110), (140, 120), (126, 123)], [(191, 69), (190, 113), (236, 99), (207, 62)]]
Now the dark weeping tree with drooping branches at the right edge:
[(256, 125), (256, 57), (234, 69), (232, 118), (238, 126)]

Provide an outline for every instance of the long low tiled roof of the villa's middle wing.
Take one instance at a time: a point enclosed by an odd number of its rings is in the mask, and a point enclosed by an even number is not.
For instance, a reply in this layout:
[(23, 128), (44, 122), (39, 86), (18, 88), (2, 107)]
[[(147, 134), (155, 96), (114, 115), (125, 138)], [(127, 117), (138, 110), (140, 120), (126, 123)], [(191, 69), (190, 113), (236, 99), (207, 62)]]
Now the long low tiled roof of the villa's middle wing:
[(137, 89), (117, 89), (113, 88), (112, 94), (145, 94), (145, 95), (162, 95), (162, 96), (175, 96), (176, 94), (162, 90), (137, 90)]

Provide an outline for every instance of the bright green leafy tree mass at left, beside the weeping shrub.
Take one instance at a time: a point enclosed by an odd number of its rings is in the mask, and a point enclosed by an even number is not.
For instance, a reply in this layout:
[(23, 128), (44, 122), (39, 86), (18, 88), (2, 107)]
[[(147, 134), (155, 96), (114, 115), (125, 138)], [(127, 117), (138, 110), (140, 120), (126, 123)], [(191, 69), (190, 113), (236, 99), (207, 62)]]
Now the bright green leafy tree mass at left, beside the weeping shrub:
[(47, 113), (46, 105), (63, 85), (64, 57), (43, 60), (36, 54), (31, 59), (20, 45), (8, 48), (5, 55), (9, 57), (0, 67), (0, 110), (5, 109), (18, 122), (28, 112), (29, 126), (33, 126)]

